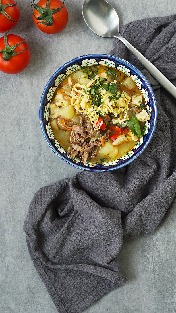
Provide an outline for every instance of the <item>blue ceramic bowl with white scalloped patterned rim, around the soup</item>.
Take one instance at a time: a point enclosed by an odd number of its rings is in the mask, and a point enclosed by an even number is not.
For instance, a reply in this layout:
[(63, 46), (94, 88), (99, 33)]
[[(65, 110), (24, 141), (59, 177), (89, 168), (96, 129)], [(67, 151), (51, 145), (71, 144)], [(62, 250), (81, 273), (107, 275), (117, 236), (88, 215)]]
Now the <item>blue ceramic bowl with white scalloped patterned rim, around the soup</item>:
[[(128, 152), (125, 156), (121, 157), (118, 160), (106, 163), (91, 163), (86, 162), (82, 163), (78, 158), (74, 158), (72, 160), (68, 159), (67, 152), (63, 149), (63, 147), (56, 140), (52, 128), (49, 123), (49, 103), (52, 98), (53, 92), (57, 88), (58, 84), (65, 79), (65, 77), (73, 72), (75, 69), (79, 69), (83, 66), (87, 65), (108, 65), (114, 68), (118, 68), (136, 82), (138, 88), (140, 88), (146, 103), (146, 107), (148, 112), (151, 114), (150, 119), (146, 122), (146, 130), (145, 135), (139, 140), (136, 146)], [(116, 58), (112, 55), (106, 54), (88, 54), (83, 55), (81, 57), (75, 58), (68, 63), (64, 64), (60, 69), (58, 69), (53, 76), (48, 81), (41, 100), (40, 100), (40, 126), (42, 128), (43, 136), (47, 141), (50, 148), (54, 151), (54, 153), (59, 156), (63, 161), (72, 165), (73, 167), (77, 167), (81, 170), (94, 171), (94, 172), (105, 172), (105, 171), (113, 171), (120, 167), (123, 167), (134, 159), (136, 159), (149, 144), (153, 133), (155, 131), (156, 122), (157, 122), (157, 105), (156, 99), (153, 93), (153, 90), (143, 76), (143, 74), (132, 64), (129, 62)]]

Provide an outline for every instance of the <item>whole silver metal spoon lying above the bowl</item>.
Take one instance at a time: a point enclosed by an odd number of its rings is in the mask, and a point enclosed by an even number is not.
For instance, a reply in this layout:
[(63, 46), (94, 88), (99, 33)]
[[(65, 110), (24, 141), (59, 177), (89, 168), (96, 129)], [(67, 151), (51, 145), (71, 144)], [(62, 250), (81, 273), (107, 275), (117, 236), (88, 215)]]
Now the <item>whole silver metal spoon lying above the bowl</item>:
[(176, 98), (176, 87), (119, 33), (118, 14), (107, 1), (85, 0), (82, 13), (84, 21), (94, 33), (100, 37), (116, 37), (120, 39), (158, 83)]

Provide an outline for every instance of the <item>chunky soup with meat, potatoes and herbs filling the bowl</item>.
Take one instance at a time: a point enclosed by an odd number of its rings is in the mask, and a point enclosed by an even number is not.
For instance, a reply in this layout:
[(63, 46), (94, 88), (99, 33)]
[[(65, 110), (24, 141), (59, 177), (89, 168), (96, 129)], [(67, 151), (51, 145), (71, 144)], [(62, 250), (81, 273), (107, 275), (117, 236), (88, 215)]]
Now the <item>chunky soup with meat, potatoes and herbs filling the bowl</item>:
[(150, 118), (131, 77), (103, 65), (80, 68), (58, 86), (49, 119), (68, 158), (104, 163), (127, 154)]

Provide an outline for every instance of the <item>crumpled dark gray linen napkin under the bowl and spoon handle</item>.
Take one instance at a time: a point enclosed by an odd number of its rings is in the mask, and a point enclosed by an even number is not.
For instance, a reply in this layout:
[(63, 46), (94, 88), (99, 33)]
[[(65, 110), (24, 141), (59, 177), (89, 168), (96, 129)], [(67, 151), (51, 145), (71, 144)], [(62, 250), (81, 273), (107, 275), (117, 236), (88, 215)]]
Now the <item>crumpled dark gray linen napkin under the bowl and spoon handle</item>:
[[(121, 33), (175, 83), (176, 15), (129, 23)], [(126, 279), (115, 259), (123, 238), (153, 232), (176, 190), (175, 100), (117, 39), (111, 52), (148, 79), (158, 122), (145, 151), (120, 170), (79, 172), (34, 195), (24, 231), (34, 266), (58, 312), (82, 312)]]

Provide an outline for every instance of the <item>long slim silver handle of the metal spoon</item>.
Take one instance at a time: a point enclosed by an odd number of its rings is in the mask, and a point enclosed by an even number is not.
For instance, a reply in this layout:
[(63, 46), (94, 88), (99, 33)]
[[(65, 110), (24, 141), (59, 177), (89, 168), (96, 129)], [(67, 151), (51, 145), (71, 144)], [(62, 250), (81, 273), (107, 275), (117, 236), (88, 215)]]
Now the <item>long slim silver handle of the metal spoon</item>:
[(121, 34), (113, 36), (120, 39), (123, 44), (135, 55), (135, 57), (143, 64), (148, 72), (163, 86), (174, 98), (176, 98), (176, 87), (150, 62), (146, 59), (136, 48), (133, 47)]

